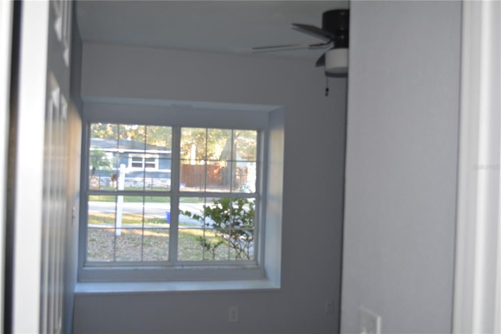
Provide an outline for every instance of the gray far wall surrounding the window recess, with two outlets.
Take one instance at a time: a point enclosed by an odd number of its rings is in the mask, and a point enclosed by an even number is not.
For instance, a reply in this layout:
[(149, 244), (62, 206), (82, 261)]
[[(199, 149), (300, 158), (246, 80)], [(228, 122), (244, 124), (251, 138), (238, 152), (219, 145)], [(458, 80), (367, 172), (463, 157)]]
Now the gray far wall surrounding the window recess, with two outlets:
[[(346, 80), (312, 61), (84, 43), (82, 96), (285, 107), (282, 288), (84, 295), (76, 332), (335, 332), (339, 325)], [(85, 113), (85, 110), (84, 110)], [(327, 299), (335, 311), (325, 312)], [(239, 307), (229, 323), (228, 306)]]

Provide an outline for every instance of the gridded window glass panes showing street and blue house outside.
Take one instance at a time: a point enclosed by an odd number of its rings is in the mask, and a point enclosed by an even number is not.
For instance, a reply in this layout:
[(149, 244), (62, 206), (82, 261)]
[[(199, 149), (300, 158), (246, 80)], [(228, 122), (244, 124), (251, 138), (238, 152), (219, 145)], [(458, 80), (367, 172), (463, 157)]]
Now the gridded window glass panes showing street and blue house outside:
[(84, 267), (257, 264), (259, 131), (89, 123)]

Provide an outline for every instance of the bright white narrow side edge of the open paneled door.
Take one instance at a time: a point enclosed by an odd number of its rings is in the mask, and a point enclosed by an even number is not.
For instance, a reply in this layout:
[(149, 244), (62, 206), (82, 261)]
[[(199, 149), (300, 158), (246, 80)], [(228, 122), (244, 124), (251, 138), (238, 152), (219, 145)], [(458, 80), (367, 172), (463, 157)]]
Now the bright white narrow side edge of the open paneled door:
[[(18, 75), (12, 332), (40, 332), (44, 126), (50, 3), (21, 5)], [(34, 55), (37, 55), (34, 61)]]

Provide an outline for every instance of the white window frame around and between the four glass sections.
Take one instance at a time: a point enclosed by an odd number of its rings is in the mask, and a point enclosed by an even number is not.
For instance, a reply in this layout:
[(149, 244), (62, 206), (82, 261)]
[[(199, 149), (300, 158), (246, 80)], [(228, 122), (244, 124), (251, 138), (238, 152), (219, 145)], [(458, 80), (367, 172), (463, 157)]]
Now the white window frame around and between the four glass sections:
[[(99, 103), (97, 103), (99, 105)], [(85, 110), (84, 105), (84, 110)], [(109, 106), (108, 106), (109, 107)], [(137, 106), (136, 106), (137, 107)], [(151, 107), (144, 107), (151, 109)], [(265, 255), (264, 255), (264, 221), (266, 217), (266, 175), (267, 175), (267, 154), (264, 147), (268, 143), (268, 115), (265, 113), (250, 112), (239, 120), (238, 117), (230, 119), (227, 112), (222, 111), (222, 117), (217, 113), (207, 114), (205, 117), (165, 117), (160, 120), (153, 112), (151, 117), (144, 117), (144, 113), (134, 114), (123, 112), (123, 106), (116, 105), (112, 112), (103, 112), (92, 108), (94, 112), (83, 117), (83, 140), (82, 140), (82, 179), (81, 179), (81, 216), (80, 216), (80, 245), (79, 245), (79, 281), (178, 281), (178, 280), (225, 280), (225, 279), (263, 279), (266, 277)], [(183, 113), (185, 111), (183, 110)], [(179, 113), (174, 112), (175, 115)], [(265, 115), (264, 115), (265, 114)], [(122, 117), (125, 115), (125, 117)], [(263, 117), (266, 116), (266, 117)], [(151, 120), (151, 119), (152, 120)], [(228, 119), (230, 121), (228, 121)], [(90, 144), (90, 124), (91, 123), (113, 123), (113, 124), (141, 124), (141, 125), (162, 125), (172, 127), (172, 164), (171, 164), (171, 190), (167, 192), (155, 191), (156, 196), (169, 196), (171, 207), (171, 224), (169, 240), (169, 261), (156, 261), (151, 265), (144, 265), (144, 262), (86, 262), (87, 253), (87, 191), (88, 184), (88, 149)], [(201, 123), (203, 122), (203, 123)], [(203, 128), (227, 128), (258, 131), (257, 147), (257, 185), (256, 194), (246, 193), (210, 193), (210, 192), (181, 192), (179, 190), (179, 164), (174, 161), (180, 160), (179, 143), (180, 131), (182, 127), (203, 127)], [(94, 191), (93, 193), (98, 193)], [(148, 196), (147, 192), (124, 191), (127, 195)], [(103, 194), (109, 192), (103, 192)], [(120, 195), (119, 191), (114, 195)], [(125, 195), (124, 193), (124, 195)], [(235, 261), (177, 261), (177, 219), (178, 201), (180, 197), (232, 197), (232, 198), (256, 198), (256, 212), (258, 217), (255, 223), (255, 259), (235, 260)], [(280, 254), (278, 254), (280, 255)], [(280, 259), (280, 256), (275, 256)], [(280, 270), (280, 268), (278, 268)], [(277, 277), (280, 277), (278, 275)]]

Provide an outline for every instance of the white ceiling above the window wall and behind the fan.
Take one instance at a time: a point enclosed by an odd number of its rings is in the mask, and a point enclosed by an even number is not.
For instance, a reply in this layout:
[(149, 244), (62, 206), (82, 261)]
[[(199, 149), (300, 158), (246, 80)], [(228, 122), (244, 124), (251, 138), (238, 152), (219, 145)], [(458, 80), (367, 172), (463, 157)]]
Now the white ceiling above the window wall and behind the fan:
[[(322, 13), (348, 1), (79, 1), (84, 41), (196, 51), (252, 53), (254, 46), (319, 42), (291, 23), (321, 27)], [(262, 55), (315, 60), (323, 50)]]

